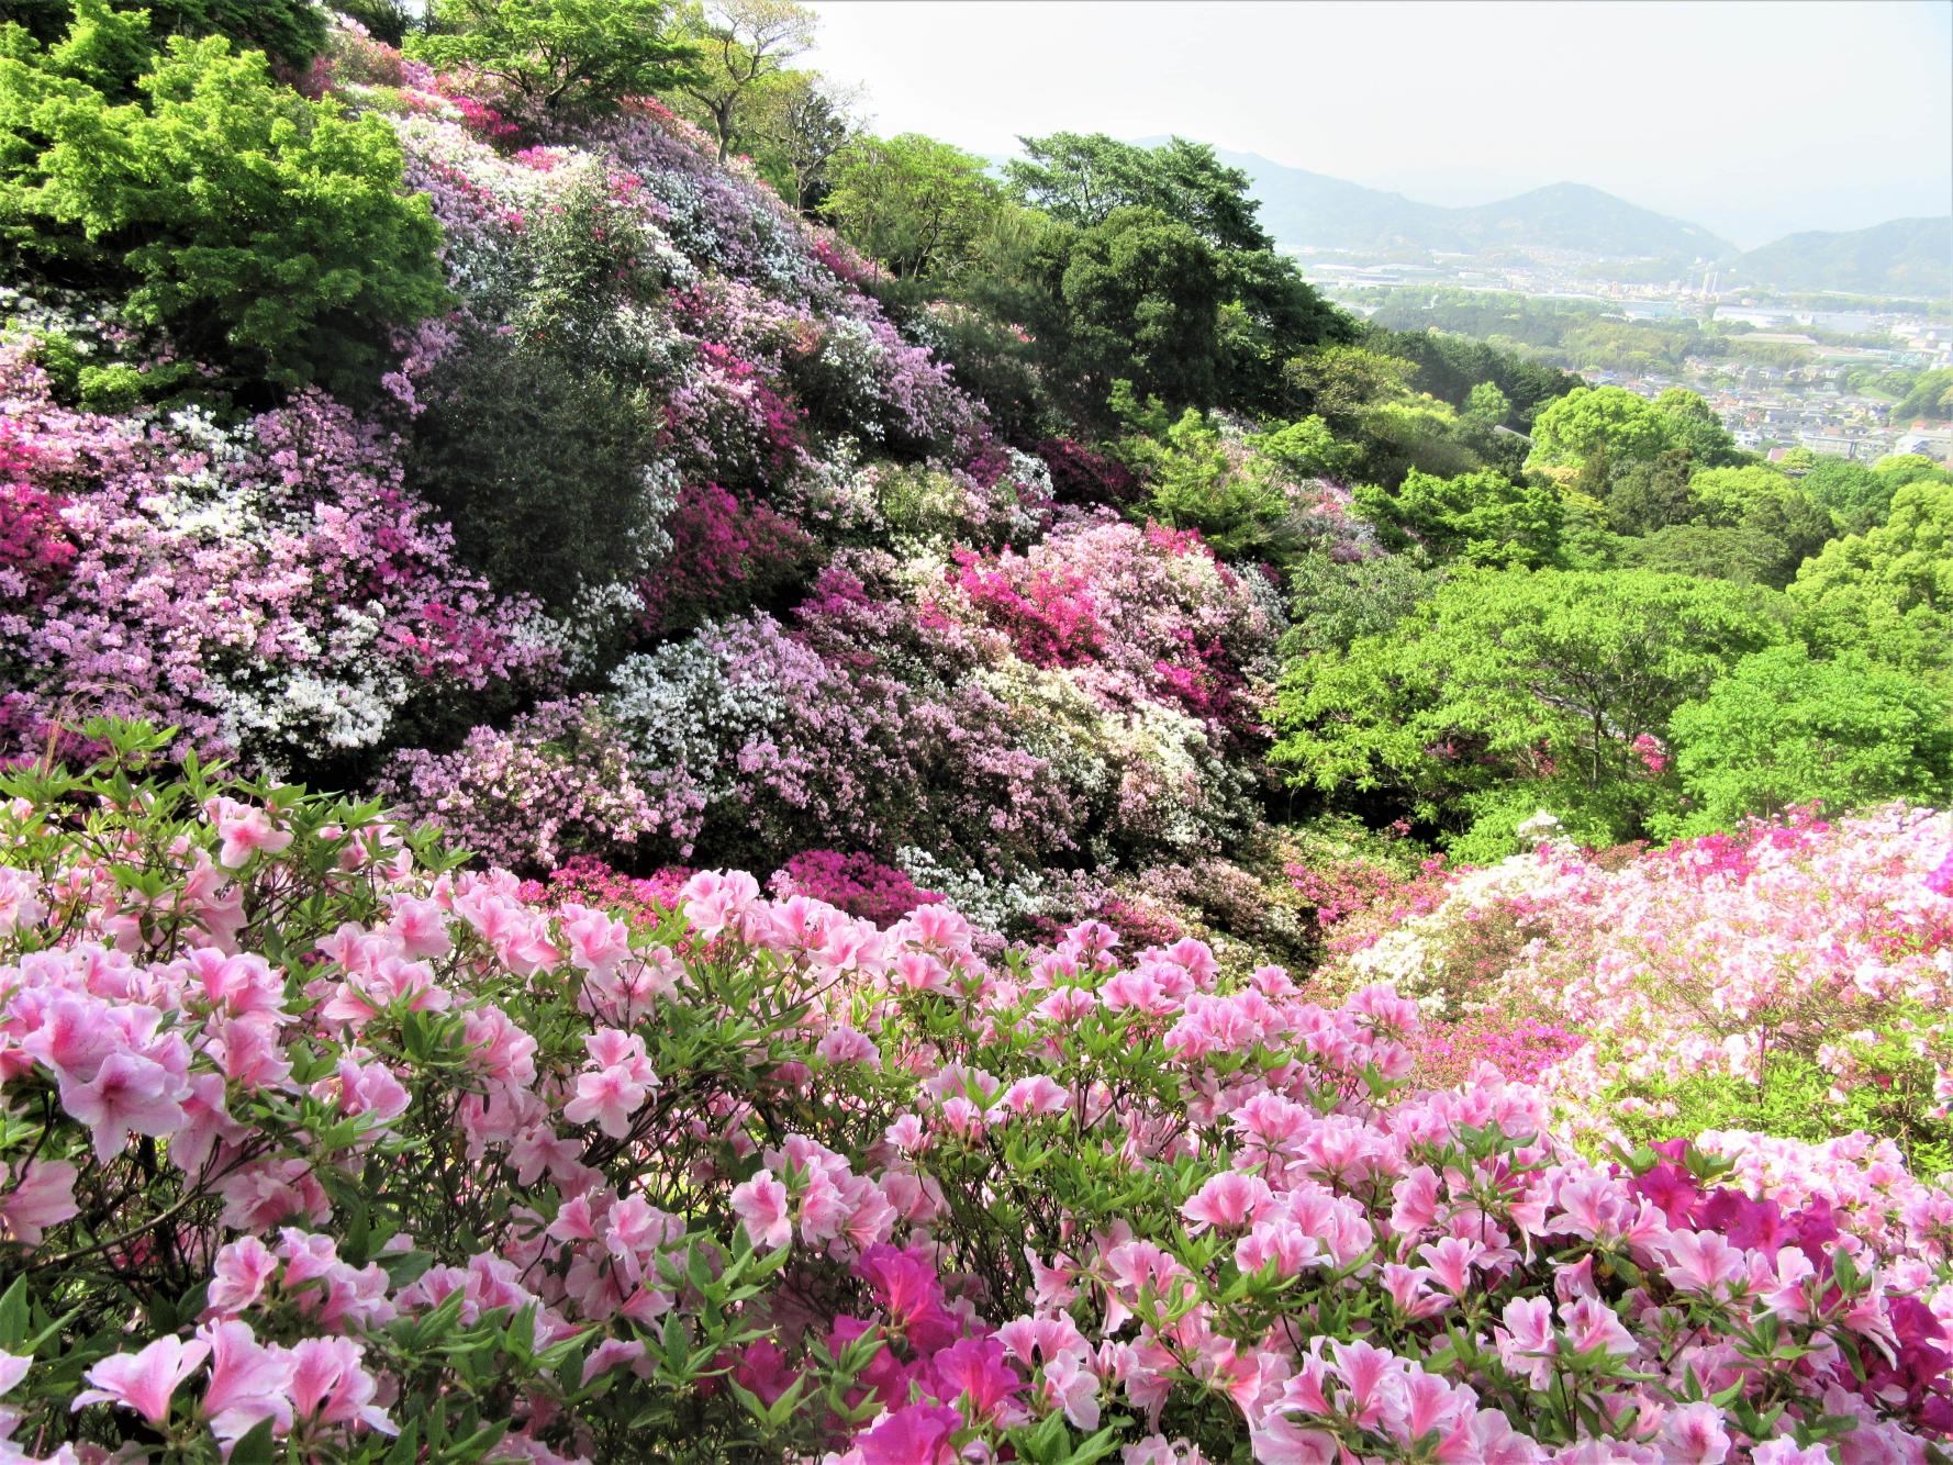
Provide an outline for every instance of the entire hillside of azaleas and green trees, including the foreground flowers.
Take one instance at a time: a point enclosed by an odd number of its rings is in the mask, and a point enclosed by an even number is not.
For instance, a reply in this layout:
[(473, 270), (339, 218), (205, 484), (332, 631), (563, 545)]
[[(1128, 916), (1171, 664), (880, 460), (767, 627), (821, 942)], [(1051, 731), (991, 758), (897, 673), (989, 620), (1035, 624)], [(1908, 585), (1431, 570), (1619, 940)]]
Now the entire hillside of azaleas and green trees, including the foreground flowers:
[(0, 1459), (1937, 1457), (1953, 475), (348, 12), (0, 4)]

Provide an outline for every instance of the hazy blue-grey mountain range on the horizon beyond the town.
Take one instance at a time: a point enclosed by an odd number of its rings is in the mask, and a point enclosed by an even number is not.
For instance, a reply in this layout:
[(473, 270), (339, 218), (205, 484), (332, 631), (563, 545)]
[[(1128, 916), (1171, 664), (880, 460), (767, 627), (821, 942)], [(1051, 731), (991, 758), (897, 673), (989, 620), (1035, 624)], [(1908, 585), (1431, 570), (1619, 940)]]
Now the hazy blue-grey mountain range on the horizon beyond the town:
[[(1166, 139), (1144, 139), (1164, 143)], [(1701, 225), (1642, 209), (1584, 184), (1443, 207), (1342, 178), (1287, 168), (1254, 152), (1217, 154), (1262, 201), (1262, 225), (1285, 248), (1402, 254), (1590, 254), (1662, 268), (1717, 266), (1726, 283), (1799, 291), (1939, 297), (1953, 293), (1953, 217), (1894, 219), (1849, 232), (1789, 234), (1738, 250)]]

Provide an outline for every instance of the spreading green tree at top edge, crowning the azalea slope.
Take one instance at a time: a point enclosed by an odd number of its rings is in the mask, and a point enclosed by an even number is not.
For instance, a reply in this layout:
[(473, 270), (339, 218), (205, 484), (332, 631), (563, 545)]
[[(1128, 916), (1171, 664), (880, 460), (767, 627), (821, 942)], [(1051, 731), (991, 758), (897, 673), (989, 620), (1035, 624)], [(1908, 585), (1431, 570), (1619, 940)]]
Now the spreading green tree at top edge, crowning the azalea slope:
[(430, 66), (492, 76), (531, 107), (590, 111), (697, 74), (666, 0), (430, 0), (436, 33), (408, 39)]

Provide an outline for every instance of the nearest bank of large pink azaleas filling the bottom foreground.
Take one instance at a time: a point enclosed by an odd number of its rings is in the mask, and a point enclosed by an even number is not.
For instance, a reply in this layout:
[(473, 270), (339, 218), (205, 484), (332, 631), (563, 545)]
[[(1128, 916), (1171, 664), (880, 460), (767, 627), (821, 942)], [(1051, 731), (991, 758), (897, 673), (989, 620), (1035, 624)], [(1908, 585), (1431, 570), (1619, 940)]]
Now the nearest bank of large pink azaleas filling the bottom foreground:
[(996, 959), (697, 873), (631, 924), (92, 725), (0, 779), (18, 1459), (1924, 1461), (1953, 1195), (1586, 1160), (1416, 1004)]

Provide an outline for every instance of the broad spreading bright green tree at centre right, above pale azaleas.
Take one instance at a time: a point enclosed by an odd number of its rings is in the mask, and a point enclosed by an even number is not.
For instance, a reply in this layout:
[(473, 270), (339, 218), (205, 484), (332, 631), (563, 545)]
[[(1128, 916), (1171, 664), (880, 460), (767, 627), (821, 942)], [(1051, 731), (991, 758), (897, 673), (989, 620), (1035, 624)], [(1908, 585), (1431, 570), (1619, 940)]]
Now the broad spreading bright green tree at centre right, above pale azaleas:
[(1475, 858), (1514, 848), (1521, 805), (1635, 838), (1674, 797), (1654, 750), (1676, 707), (1783, 639), (1779, 602), (1644, 570), (1461, 572), (1348, 654), (1291, 662), (1275, 760), (1398, 799)]

